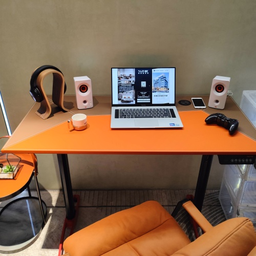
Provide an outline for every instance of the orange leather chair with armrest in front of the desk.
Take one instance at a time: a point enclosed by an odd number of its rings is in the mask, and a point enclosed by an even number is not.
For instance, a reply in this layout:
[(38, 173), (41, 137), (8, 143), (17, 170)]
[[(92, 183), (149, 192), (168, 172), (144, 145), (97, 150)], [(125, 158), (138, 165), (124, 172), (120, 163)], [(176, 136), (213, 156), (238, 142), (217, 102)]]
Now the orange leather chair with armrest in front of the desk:
[(204, 231), (194, 242), (158, 202), (147, 201), (72, 234), (63, 243), (64, 255), (255, 255), (256, 233), (249, 219), (212, 227), (191, 201), (183, 207)]

